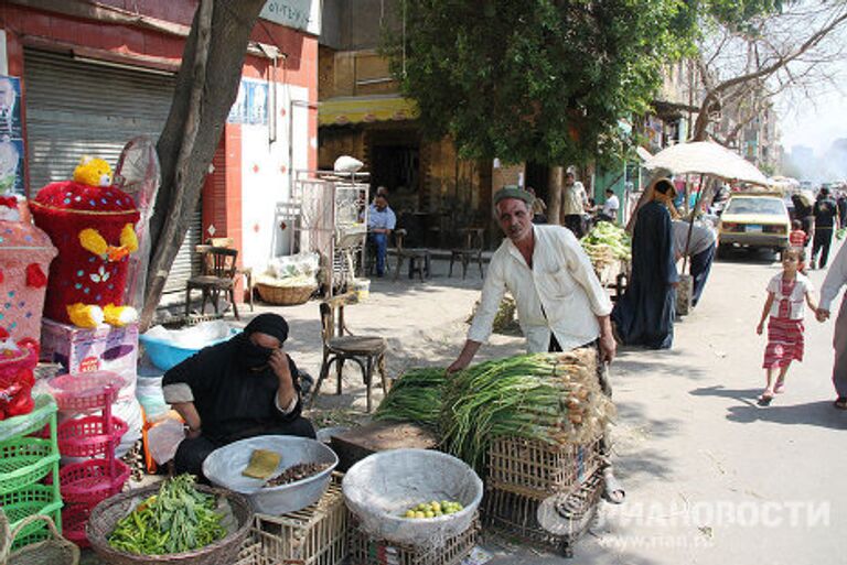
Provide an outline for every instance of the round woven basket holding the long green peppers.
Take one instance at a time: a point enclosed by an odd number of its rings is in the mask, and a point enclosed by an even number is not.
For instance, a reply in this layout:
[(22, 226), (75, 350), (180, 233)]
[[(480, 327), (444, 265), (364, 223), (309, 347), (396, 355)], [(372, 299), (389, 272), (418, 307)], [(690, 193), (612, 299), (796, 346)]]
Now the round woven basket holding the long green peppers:
[(124, 492), (97, 504), (92, 510), (86, 526), (88, 542), (97, 555), (111, 565), (232, 565), (237, 561), (238, 550), (250, 532), (253, 524), (250, 503), (242, 495), (229, 490), (203, 485), (194, 488), (201, 492), (226, 498), (238, 522), (238, 530), (235, 533), (200, 550), (170, 555), (137, 555), (114, 548), (109, 545), (107, 536), (115, 530), (118, 521), (130, 512), (135, 500), (144, 500), (159, 492), (159, 487), (152, 486)]

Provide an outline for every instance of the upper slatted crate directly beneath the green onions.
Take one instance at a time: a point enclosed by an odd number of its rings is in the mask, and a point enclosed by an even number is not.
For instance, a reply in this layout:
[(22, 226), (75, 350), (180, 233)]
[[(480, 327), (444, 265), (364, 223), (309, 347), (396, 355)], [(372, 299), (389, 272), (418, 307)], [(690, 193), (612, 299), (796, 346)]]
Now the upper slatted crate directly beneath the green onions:
[(573, 493), (600, 468), (600, 442), (550, 445), (518, 437), (494, 439), (485, 483), (536, 498)]

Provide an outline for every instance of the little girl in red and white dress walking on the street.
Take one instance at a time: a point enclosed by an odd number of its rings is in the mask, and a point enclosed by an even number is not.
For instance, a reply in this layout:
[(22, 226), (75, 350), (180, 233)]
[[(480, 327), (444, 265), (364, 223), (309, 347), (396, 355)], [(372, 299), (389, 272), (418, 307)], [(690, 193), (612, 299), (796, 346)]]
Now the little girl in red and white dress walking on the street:
[[(764, 320), (768, 322), (768, 346), (764, 348), (764, 362), (766, 387), (759, 396), (759, 404), (766, 406), (773, 400), (774, 393), (779, 394), (785, 388), (785, 373), (789, 372), (791, 361), (803, 360), (803, 316), (805, 314), (804, 302), (813, 312), (817, 306), (812, 298), (812, 281), (800, 272), (800, 265), (804, 261), (802, 249), (790, 248), (782, 254), (782, 272), (768, 283), (768, 298), (762, 308), (762, 319), (755, 328), (761, 335)], [(774, 370), (780, 373), (773, 379)]]

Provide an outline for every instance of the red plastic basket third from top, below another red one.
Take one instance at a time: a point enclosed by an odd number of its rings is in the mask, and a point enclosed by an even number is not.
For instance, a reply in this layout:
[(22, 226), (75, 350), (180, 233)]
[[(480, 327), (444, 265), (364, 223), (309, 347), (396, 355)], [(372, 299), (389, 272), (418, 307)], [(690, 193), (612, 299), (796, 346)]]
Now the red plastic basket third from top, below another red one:
[(67, 465), (58, 471), (62, 499), (93, 507), (120, 492), (129, 474), (129, 466), (120, 459), (89, 459)]

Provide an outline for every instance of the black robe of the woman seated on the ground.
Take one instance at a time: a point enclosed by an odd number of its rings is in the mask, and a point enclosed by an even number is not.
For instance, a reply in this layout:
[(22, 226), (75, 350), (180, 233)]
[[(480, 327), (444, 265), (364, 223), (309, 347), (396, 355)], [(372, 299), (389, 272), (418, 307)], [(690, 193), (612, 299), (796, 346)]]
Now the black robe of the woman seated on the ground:
[[(298, 420), (302, 411), (302, 400), (289, 414), (277, 409), (277, 376), (269, 367), (254, 371), (240, 361), (242, 339), (247, 337), (242, 334), (206, 347), (170, 369), (162, 379), (162, 387), (184, 383), (191, 388), (203, 436), (217, 445), (255, 435), (286, 434), (287, 424)], [(288, 361), (300, 396), (297, 366), (290, 357)]]

